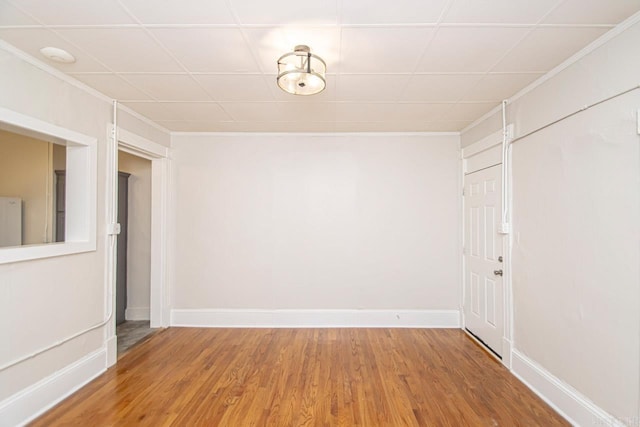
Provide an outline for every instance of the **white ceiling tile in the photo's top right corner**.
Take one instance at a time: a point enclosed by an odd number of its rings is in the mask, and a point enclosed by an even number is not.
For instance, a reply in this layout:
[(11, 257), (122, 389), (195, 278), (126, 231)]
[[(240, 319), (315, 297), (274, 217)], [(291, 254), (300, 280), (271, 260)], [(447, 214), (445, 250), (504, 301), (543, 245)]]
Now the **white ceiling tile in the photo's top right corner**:
[[(606, 5), (606, 7), (603, 7)], [(566, 0), (545, 24), (618, 24), (640, 10), (638, 0)]]

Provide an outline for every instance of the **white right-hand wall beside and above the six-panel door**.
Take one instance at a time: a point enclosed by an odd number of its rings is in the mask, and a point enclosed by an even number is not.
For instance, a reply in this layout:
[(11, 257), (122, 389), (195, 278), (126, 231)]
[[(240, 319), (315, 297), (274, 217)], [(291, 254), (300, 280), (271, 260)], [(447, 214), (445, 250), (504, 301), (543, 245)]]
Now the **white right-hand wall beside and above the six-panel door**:
[[(639, 41), (635, 24), (510, 103), (515, 136), (636, 86)], [(513, 146), (515, 348), (628, 423), (640, 419), (639, 107), (637, 90)], [(488, 118), (463, 145), (499, 126)]]

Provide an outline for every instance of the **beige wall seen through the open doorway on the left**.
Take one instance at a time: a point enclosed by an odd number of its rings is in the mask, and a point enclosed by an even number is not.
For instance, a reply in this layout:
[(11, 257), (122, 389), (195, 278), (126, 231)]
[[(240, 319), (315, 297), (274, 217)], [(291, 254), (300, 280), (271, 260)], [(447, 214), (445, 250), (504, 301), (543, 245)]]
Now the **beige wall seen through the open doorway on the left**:
[(129, 177), (127, 320), (149, 320), (151, 287), (151, 161), (118, 152), (118, 169)]

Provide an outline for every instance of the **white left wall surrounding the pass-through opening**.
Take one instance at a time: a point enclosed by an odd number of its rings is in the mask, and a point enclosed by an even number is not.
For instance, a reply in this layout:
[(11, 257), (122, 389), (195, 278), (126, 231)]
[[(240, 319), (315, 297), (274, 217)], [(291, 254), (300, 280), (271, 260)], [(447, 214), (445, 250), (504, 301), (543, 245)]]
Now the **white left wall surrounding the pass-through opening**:
[[(0, 366), (100, 323), (107, 306), (105, 164), (112, 105), (34, 63), (0, 42), (0, 106), (98, 139), (97, 250), (0, 265)], [(162, 136), (135, 117), (121, 116), (129, 131), (169, 143), (168, 135)], [(60, 397), (56, 393), (66, 390), (60, 383), (43, 386), (40, 381), (60, 374), (63, 368), (71, 369), (66, 374), (75, 372), (70, 366), (104, 349), (105, 336), (105, 328), (99, 328), (0, 370), (0, 424), (13, 424), (18, 418), (8, 417), (39, 410), (38, 405)], [(104, 360), (100, 366), (104, 368)], [(27, 387), (31, 388), (25, 392)], [(30, 400), (34, 394), (38, 394), (37, 401)]]

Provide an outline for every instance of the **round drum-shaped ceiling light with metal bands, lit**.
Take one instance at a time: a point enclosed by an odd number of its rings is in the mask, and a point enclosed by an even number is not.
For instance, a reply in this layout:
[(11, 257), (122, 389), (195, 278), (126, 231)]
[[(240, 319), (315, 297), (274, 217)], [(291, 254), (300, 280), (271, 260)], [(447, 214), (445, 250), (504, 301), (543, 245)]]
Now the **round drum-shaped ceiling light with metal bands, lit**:
[(327, 64), (311, 53), (309, 46), (299, 45), (278, 59), (278, 86), (294, 95), (314, 95), (327, 86)]

